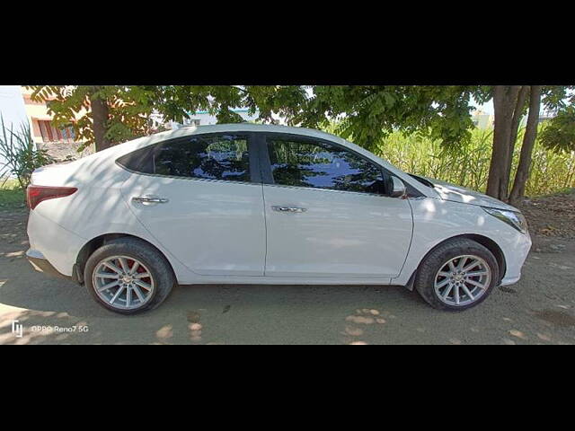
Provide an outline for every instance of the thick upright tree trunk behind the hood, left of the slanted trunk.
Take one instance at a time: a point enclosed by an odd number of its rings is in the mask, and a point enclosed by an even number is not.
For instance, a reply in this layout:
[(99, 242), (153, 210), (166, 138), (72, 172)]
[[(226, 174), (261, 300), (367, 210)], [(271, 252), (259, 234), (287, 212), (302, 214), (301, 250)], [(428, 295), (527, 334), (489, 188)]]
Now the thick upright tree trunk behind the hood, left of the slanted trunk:
[(493, 149), (487, 194), (493, 198), (506, 199), (508, 184), (504, 183), (509, 163), (509, 140), (513, 112), (517, 105), (519, 85), (496, 85), (493, 89), (493, 110), (495, 124), (493, 129)]

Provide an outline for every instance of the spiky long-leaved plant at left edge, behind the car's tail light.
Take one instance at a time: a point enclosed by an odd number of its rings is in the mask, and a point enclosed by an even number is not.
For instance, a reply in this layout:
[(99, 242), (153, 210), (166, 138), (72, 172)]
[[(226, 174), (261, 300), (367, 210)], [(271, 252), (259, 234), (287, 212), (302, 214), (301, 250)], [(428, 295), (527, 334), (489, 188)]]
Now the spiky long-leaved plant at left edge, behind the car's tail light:
[(0, 155), (5, 162), (0, 163), (0, 178), (4, 184), (10, 174), (16, 176), (21, 189), (25, 189), (30, 184), (31, 174), (35, 169), (52, 163), (52, 158), (46, 150), (36, 148), (32, 136), (30, 125), (27, 121), (22, 122), (19, 132), (14, 132), (13, 128), (6, 128), (4, 119), (0, 117), (2, 135), (0, 136)]

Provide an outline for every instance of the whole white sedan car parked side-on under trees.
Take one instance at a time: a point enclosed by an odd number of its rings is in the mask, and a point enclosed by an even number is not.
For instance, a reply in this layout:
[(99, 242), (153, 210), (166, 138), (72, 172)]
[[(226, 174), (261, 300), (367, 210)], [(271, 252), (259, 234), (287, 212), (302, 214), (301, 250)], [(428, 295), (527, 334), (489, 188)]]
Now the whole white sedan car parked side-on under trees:
[(34, 266), (126, 314), (175, 283), (399, 285), (464, 310), (531, 247), (517, 208), (307, 128), (142, 137), (37, 170), (28, 204)]

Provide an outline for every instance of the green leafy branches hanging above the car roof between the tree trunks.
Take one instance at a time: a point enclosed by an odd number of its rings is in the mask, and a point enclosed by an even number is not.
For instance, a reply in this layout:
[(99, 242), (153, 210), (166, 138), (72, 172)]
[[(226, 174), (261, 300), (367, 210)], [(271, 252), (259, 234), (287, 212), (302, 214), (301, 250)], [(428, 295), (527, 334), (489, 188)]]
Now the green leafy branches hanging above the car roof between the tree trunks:
[(289, 125), (327, 127), (339, 120), (336, 133), (372, 148), (394, 130), (419, 132), (447, 147), (469, 141), (472, 96), (491, 98), (490, 87), (417, 85), (216, 85), (164, 86), (156, 92), (156, 108), (166, 119), (188, 118), (207, 110), (218, 122), (240, 122), (232, 109), (259, 112), (261, 122), (283, 117)]

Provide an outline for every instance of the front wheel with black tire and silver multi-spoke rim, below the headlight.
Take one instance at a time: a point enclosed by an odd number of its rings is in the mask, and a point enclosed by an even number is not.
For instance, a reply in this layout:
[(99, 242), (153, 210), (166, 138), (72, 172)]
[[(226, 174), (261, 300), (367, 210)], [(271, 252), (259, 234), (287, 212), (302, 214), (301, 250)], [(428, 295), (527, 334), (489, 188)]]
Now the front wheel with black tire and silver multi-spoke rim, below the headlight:
[[(461, 269), (464, 268), (458, 268), (458, 263), (467, 258), (464, 260), (464, 266), (468, 266), (475, 261), (473, 257), (478, 264), (463, 274), (464, 271)], [(450, 261), (456, 267), (456, 272), (452, 272), (453, 267), (449, 266)], [(485, 275), (466, 277), (466, 275), (482, 273)], [(446, 277), (443, 276), (444, 274)], [(491, 294), (499, 278), (500, 268), (491, 251), (478, 242), (461, 238), (439, 244), (429, 252), (418, 269), (415, 289), (433, 308), (463, 311), (482, 303)], [(474, 285), (471, 284), (473, 282)], [(479, 285), (484, 287), (480, 288)], [(464, 293), (464, 288), (473, 296), (473, 299)], [(442, 299), (441, 296), (446, 294), (447, 296)]]

